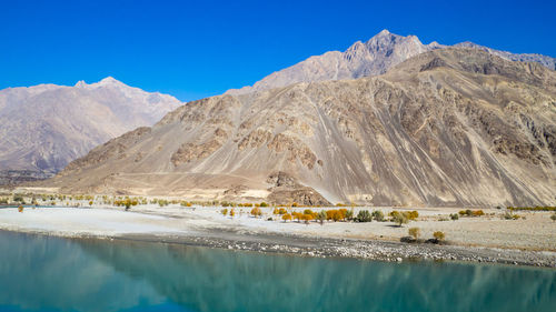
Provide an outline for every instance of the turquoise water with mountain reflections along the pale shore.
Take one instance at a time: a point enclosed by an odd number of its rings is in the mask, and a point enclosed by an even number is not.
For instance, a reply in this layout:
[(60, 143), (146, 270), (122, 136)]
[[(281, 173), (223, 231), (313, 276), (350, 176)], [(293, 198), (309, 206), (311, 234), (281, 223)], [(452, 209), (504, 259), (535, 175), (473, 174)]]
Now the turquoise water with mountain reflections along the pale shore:
[[(552, 311), (556, 270), (0, 234), (0, 304), (116, 311)], [(19, 282), (23, 279), (23, 282)], [(14, 284), (16, 288), (8, 288)], [(56, 286), (53, 286), (56, 285)]]

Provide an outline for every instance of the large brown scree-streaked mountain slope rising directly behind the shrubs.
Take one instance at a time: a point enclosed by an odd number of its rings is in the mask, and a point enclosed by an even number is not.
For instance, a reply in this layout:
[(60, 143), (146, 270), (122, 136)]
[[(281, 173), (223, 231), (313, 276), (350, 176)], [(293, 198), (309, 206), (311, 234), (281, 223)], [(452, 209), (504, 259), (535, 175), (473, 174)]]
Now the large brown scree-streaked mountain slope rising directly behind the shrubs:
[(44, 185), (277, 203), (556, 204), (556, 72), (435, 49), (357, 80), (189, 102)]

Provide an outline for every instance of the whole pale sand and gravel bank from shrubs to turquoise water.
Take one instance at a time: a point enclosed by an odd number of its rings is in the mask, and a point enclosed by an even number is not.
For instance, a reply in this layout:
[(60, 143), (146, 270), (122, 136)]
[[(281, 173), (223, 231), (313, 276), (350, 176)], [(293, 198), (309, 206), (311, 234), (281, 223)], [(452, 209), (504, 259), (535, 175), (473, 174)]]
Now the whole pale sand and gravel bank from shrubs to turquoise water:
[[(556, 268), (556, 222), (548, 212), (519, 212), (519, 220), (503, 220), (499, 210), (479, 218), (448, 219), (459, 209), (418, 209), (418, 221), (404, 227), (391, 222), (277, 221), (270, 208), (261, 218), (250, 209), (236, 208), (225, 217), (222, 208), (169, 205), (121, 208), (17, 208), (0, 209), (0, 230), (70, 238), (133, 239), (210, 245), (238, 250), (298, 253), (315, 256), (354, 256), (387, 261), (436, 259), (485, 261)], [(332, 208), (330, 208), (332, 209)], [(359, 208), (365, 209), (365, 208)], [(368, 209), (368, 208), (367, 208)], [(369, 209), (374, 210), (376, 208)], [(302, 211), (302, 209), (298, 209)], [(388, 214), (391, 208), (380, 208)], [(398, 209), (400, 210), (400, 209)], [(358, 208), (355, 213), (357, 214)], [(274, 218), (275, 221), (268, 221)], [(400, 243), (409, 228), (421, 239), (443, 231), (447, 243)]]

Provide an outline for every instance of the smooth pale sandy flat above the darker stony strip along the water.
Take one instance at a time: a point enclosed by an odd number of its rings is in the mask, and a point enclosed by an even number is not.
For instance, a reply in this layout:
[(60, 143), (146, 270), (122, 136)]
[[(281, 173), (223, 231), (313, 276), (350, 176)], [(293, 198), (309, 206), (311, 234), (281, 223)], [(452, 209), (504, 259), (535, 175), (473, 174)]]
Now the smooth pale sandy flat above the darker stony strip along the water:
[[(0, 229), (22, 232), (47, 232), (76, 236), (111, 236), (122, 234), (195, 234), (199, 230), (230, 230), (239, 233), (284, 233), (312, 238), (349, 238), (361, 240), (399, 241), (409, 228), (421, 230), (421, 238), (431, 238), (433, 232), (443, 231), (446, 239), (458, 245), (509, 248), (524, 250), (556, 251), (556, 222), (548, 212), (519, 212), (526, 220), (502, 220), (500, 210), (484, 210), (493, 217), (460, 218), (457, 221), (438, 221), (459, 209), (417, 209), (419, 220), (403, 228), (390, 222), (316, 222), (304, 223), (267, 221), (276, 215), (264, 208), (262, 218), (252, 218), (250, 209), (236, 208), (236, 217), (224, 217), (222, 208), (182, 208), (170, 205), (135, 207), (131, 211), (121, 208), (26, 208), (22, 213), (16, 208), (0, 209)], [(374, 210), (373, 208), (361, 208)], [(302, 211), (304, 209), (297, 209)], [(317, 209), (318, 210), (318, 209)], [(356, 208), (357, 214), (359, 209)], [(390, 208), (380, 209), (385, 214)], [(399, 210), (399, 209), (398, 209)], [(279, 218), (279, 217), (278, 217)]]

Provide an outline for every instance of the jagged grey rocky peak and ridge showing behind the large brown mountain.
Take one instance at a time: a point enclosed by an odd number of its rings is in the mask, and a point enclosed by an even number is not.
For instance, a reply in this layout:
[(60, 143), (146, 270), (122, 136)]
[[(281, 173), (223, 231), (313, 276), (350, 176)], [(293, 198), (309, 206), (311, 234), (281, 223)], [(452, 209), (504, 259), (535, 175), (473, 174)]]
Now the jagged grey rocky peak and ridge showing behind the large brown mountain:
[[(423, 52), (447, 48), (436, 41), (423, 44), (415, 36), (398, 36), (383, 30), (367, 42), (357, 41), (345, 52), (331, 51), (322, 56), (310, 57), (295, 66), (274, 72), (252, 87), (231, 89), (226, 94), (245, 94), (272, 88), (286, 87), (298, 82), (357, 79), (378, 76), (391, 67)], [(510, 61), (537, 62), (556, 70), (556, 59), (540, 54), (514, 54), (494, 50), (473, 42), (463, 42), (454, 47), (474, 48), (487, 51)]]

